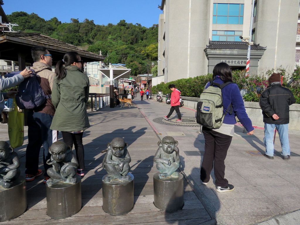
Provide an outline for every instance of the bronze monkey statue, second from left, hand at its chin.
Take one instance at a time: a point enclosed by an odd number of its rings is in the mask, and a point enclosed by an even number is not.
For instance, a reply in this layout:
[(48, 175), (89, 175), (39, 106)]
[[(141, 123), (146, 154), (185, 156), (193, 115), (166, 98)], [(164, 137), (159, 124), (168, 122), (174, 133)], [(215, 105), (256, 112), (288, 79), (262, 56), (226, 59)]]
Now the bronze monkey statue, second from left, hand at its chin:
[(46, 184), (48, 187), (57, 184), (62, 181), (64, 183), (76, 184), (78, 162), (76, 156), (72, 153), (70, 146), (67, 146), (62, 141), (54, 142), (49, 148), (51, 154), (50, 159), (47, 160), (48, 165), (52, 165), (52, 168), (47, 170), (50, 179)]

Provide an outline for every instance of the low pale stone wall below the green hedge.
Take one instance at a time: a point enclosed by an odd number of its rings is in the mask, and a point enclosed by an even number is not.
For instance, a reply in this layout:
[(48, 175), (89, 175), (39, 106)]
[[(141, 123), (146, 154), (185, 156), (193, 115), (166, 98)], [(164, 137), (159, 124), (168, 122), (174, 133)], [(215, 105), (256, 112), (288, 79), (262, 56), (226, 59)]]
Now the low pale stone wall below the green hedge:
[[(182, 97), (184, 107), (196, 109), (199, 98)], [(252, 121), (253, 126), (263, 127), (262, 110), (258, 102), (244, 102), (246, 112)], [(293, 104), (289, 107), (289, 129), (300, 130), (300, 104)]]

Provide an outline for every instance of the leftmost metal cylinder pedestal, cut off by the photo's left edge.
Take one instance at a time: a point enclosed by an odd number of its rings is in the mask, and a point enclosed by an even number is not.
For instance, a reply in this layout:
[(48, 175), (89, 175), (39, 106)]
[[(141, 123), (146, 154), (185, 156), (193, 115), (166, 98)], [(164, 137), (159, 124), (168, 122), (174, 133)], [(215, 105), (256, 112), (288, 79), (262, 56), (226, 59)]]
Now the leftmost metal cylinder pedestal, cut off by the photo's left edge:
[(27, 209), (26, 182), (19, 177), (14, 186), (5, 189), (0, 186), (0, 222), (14, 219)]

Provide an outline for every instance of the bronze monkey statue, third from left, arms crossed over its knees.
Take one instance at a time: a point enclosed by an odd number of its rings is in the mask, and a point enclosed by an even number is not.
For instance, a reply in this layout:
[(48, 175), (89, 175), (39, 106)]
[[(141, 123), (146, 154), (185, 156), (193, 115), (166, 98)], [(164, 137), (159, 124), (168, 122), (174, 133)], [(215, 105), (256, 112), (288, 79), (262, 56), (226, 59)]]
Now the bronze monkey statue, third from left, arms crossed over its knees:
[(127, 175), (131, 162), (130, 155), (127, 151), (127, 143), (120, 137), (114, 138), (107, 144), (106, 152), (102, 167), (107, 171), (108, 175), (105, 176), (104, 182), (109, 183), (116, 179), (119, 181), (131, 181), (131, 176)]

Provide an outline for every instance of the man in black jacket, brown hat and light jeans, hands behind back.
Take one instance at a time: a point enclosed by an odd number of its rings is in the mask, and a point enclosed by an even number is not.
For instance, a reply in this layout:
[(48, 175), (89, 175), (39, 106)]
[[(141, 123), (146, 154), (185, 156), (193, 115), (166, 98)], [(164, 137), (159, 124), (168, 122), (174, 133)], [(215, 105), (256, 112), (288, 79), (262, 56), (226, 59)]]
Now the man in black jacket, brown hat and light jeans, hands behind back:
[(269, 86), (259, 97), (259, 105), (262, 109), (263, 122), (265, 123), (265, 157), (274, 159), (274, 128), (279, 134), (284, 160), (289, 160), (289, 106), (295, 103), (295, 98), (288, 88), (280, 84), (280, 74), (273, 73), (269, 78)]

